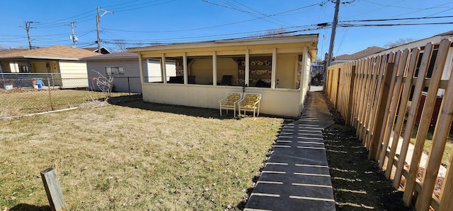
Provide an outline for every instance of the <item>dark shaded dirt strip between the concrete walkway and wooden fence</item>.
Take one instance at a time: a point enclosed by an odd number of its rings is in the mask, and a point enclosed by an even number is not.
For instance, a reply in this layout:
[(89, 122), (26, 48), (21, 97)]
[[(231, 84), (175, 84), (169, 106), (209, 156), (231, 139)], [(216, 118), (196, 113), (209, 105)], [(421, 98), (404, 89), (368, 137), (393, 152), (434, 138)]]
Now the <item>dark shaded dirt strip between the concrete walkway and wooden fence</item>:
[(326, 100), (336, 122), (324, 131), (337, 210), (388, 210), (383, 198), (395, 192), (377, 162), (355, 136), (355, 128), (345, 126), (343, 117)]

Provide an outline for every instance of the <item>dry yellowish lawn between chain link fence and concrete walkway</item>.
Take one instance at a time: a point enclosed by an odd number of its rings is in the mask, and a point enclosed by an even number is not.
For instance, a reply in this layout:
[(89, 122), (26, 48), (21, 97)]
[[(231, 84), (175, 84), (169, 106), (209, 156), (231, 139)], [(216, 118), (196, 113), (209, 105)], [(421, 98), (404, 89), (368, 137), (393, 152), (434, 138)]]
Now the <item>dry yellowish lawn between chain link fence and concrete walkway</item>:
[(67, 210), (240, 209), (284, 119), (127, 102), (0, 122), (0, 209), (48, 205), (57, 169)]

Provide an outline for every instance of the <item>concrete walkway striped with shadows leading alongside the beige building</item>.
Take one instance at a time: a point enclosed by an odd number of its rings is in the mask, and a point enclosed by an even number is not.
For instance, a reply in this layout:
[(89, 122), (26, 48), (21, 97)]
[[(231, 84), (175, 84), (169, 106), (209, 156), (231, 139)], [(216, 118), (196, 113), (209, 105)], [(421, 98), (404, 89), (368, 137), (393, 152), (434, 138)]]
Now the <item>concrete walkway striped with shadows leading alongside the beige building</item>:
[(283, 126), (244, 210), (336, 210), (323, 143), (333, 124), (320, 92), (309, 92), (301, 118)]

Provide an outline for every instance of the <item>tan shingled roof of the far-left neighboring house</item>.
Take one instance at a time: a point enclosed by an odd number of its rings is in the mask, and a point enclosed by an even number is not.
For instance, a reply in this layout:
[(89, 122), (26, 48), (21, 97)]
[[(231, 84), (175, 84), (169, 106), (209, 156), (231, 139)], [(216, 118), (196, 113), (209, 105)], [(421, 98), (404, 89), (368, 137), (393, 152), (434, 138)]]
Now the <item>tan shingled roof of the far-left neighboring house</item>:
[(53, 59), (53, 60), (75, 60), (83, 57), (100, 55), (86, 49), (73, 48), (63, 45), (55, 45), (40, 49), (10, 52), (0, 54), (0, 59)]

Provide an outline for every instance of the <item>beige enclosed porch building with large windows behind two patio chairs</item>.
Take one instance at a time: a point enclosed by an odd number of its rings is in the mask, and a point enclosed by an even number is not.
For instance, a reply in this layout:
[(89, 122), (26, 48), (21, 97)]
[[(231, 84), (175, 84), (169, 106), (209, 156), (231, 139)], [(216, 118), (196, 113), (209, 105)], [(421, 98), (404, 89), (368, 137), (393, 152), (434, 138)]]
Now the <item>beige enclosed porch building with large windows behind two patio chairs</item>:
[[(139, 55), (145, 102), (218, 109), (227, 92), (262, 94), (260, 112), (299, 116), (319, 35), (217, 40), (128, 49)], [(159, 80), (144, 77), (145, 59), (176, 61), (176, 76), (160, 65)], [(165, 78), (165, 80), (164, 80)], [(167, 80), (168, 78), (168, 80)]]

